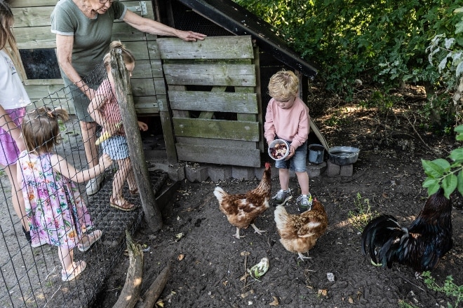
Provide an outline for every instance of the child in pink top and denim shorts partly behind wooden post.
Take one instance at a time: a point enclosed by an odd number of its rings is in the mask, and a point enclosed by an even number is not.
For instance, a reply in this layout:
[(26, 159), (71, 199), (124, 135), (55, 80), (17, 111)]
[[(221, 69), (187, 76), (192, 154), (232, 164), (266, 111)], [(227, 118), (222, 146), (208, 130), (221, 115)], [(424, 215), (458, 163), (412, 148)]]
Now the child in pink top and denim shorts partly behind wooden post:
[[(131, 77), (133, 69), (135, 69), (135, 58), (132, 52), (127, 50), (120, 41), (112, 41), (110, 50), (113, 49), (121, 50), (123, 62), (126, 64), (126, 69)], [(121, 211), (132, 211), (135, 209), (135, 205), (124, 199), (122, 195), (123, 184), (127, 181), (130, 195), (136, 195), (138, 188), (133, 174), (132, 163), (130, 162), (126, 134), (121, 124), (121, 111), (116, 99), (114, 79), (111, 73), (111, 52), (105, 55), (103, 62), (108, 77), (98, 87), (95, 97), (88, 106), (88, 113), (96, 123), (103, 127), (102, 134), (107, 133), (110, 136), (109, 139), (102, 141), (102, 153), (109, 154), (113, 160), (117, 161), (119, 167), (116, 174), (114, 174), (109, 205)], [(148, 125), (140, 121), (138, 121), (138, 127), (142, 131), (148, 130)]]

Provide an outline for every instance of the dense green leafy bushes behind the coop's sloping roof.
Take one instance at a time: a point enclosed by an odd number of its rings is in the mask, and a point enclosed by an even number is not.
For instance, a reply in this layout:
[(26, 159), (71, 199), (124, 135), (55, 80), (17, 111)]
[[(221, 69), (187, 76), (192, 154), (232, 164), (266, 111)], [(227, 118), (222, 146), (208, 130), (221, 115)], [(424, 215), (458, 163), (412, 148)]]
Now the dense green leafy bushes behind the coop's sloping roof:
[[(463, 123), (451, 94), (441, 93), (452, 89), (457, 78), (439, 69), (455, 66), (463, 46), (461, 0), (234, 1), (269, 22), (291, 48), (318, 67), (317, 78), (326, 90), (349, 100), (356, 79), (383, 85), (382, 90), (420, 84), (429, 99), (422, 116), (430, 125), (424, 127), (445, 131), (455, 120)], [(453, 38), (451, 59), (444, 38)], [(455, 66), (453, 72), (458, 70)]]

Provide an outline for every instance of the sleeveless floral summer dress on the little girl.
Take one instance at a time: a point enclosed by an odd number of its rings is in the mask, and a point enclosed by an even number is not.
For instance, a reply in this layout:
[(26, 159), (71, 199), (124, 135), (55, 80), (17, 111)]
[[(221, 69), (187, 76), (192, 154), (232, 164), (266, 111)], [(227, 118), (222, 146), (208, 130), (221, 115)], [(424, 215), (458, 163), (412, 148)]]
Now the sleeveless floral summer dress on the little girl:
[(18, 158), (32, 244), (72, 249), (93, 223), (76, 185), (53, 170), (51, 155), (23, 151)]

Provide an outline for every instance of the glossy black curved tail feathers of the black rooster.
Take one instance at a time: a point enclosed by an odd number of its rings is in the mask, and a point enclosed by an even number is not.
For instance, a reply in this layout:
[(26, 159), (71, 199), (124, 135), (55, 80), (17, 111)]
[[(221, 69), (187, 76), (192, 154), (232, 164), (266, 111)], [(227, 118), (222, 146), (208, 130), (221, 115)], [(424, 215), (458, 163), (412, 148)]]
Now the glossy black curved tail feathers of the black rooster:
[[(369, 255), (376, 263), (376, 247), (382, 247), (384, 244), (388, 243), (391, 236), (398, 230), (401, 230), (401, 225), (398, 224), (394, 216), (382, 215), (374, 218), (363, 228), (361, 237), (363, 255)], [(388, 248), (384, 248), (385, 247), (382, 247), (382, 251), (388, 250)]]

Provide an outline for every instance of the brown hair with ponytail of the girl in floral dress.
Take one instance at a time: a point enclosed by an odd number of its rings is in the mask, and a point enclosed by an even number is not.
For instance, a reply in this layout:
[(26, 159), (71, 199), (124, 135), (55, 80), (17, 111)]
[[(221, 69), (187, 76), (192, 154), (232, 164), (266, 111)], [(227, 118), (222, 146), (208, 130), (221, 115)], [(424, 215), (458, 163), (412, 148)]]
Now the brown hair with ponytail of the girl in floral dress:
[(59, 144), (60, 125), (58, 120), (67, 121), (69, 116), (65, 109), (40, 107), (26, 113), (22, 119), (22, 138), (29, 152), (48, 153)]

